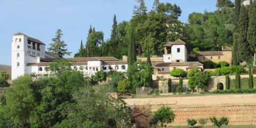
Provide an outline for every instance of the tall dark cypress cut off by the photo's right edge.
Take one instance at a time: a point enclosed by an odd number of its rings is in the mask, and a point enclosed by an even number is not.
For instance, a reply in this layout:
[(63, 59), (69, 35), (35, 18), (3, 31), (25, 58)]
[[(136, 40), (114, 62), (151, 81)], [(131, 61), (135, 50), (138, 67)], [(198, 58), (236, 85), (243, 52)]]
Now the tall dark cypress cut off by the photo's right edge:
[(250, 44), (251, 51), (254, 52), (253, 66), (255, 66), (255, 62), (256, 62), (256, 57), (255, 57), (256, 56), (256, 8), (255, 7), (253, 7), (250, 14), (247, 41)]

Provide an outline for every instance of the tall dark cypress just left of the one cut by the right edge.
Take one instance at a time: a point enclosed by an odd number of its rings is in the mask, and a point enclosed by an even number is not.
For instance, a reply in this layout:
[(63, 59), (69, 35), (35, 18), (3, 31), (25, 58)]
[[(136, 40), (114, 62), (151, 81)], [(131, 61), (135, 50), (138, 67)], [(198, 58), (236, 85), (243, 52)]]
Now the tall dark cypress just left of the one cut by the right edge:
[(238, 56), (239, 61), (248, 62), (251, 57), (249, 42), (247, 41), (247, 31), (249, 26), (249, 17), (245, 6), (241, 7), (238, 21)]

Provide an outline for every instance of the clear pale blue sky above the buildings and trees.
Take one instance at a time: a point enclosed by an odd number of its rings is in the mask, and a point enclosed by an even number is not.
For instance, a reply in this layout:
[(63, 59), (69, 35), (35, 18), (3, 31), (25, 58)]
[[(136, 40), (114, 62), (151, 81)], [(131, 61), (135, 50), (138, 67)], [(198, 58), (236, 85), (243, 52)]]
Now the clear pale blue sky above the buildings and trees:
[[(217, 10), (217, 0), (159, 0), (180, 6), (179, 18), (187, 22), (192, 12), (209, 12)], [(232, 0), (234, 2), (234, 0)], [(154, 0), (145, 0), (148, 10)], [(49, 47), (56, 29), (61, 29), (62, 40), (68, 45), (70, 56), (78, 51), (81, 39), (85, 44), (90, 25), (97, 31), (103, 31), (104, 39), (111, 33), (113, 17), (117, 22), (132, 18), (135, 0), (0, 0), (0, 64), (11, 65), (12, 35), (22, 32), (39, 39)]]

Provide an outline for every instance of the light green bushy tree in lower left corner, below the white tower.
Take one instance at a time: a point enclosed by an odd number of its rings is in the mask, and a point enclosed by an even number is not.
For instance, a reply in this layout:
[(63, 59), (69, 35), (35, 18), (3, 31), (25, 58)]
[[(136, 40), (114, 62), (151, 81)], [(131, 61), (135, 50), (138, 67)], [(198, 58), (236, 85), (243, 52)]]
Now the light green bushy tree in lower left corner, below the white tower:
[(3, 106), (5, 118), (15, 124), (28, 124), (31, 113), (37, 105), (34, 82), (30, 75), (25, 74), (14, 79), (12, 87), (6, 89), (6, 105)]

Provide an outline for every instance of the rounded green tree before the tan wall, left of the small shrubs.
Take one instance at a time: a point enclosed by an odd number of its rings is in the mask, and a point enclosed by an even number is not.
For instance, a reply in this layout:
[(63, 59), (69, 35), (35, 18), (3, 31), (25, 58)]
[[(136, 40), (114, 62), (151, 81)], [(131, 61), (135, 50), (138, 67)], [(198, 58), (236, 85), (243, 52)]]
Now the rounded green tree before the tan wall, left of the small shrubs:
[(175, 115), (170, 107), (162, 106), (157, 111), (154, 111), (153, 117), (150, 119), (150, 126), (156, 125), (158, 122), (161, 123), (161, 127), (165, 126), (164, 124), (169, 124), (174, 121)]

